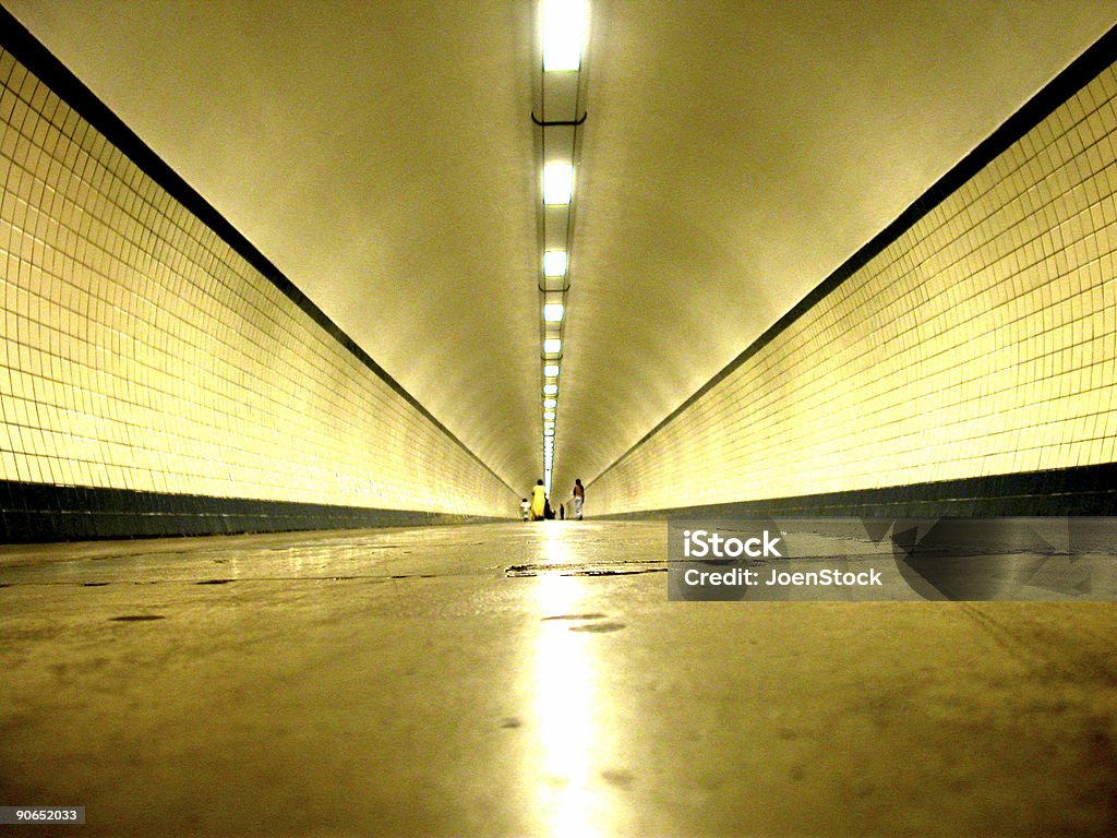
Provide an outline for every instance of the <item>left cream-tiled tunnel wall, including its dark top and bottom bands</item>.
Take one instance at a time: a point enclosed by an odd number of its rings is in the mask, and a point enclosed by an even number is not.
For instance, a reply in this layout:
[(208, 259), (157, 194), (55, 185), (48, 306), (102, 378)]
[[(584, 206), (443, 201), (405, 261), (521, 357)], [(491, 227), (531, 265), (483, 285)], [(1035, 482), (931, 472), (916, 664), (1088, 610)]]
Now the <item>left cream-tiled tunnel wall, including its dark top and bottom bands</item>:
[(3, 541), (516, 513), (23, 36), (0, 51)]

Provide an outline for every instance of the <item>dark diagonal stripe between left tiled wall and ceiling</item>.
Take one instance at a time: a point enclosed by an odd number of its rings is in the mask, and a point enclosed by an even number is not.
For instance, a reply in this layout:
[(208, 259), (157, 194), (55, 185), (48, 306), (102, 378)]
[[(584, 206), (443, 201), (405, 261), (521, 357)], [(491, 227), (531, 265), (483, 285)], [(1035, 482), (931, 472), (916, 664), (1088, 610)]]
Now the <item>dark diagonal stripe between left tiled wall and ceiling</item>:
[(124, 124), (97, 96), (59, 61), (11, 12), (0, 6), (0, 47), (12, 54), (25, 67), (50, 87), (67, 105), (73, 107), (86, 122), (105, 135), (141, 171), (154, 180), (174, 200), (179, 201), (207, 227), (216, 232), (241, 258), (262, 274), (268, 282), (281, 291), (311, 320), (322, 326), (335, 341), (354, 358), (378, 375), (402, 397), (411, 407), (438, 428), (446, 437), (469, 455), (481, 468), (496, 477), (513, 495), (519, 496), (450, 430), (436, 419), (419, 401), (393, 379), (383, 368), (345, 334), (325, 312), (318, 308), (287, 278), (271, 261), (229, 223), (204, 198), (187, 183), (171, 166), (155, 154), (135, 132)]

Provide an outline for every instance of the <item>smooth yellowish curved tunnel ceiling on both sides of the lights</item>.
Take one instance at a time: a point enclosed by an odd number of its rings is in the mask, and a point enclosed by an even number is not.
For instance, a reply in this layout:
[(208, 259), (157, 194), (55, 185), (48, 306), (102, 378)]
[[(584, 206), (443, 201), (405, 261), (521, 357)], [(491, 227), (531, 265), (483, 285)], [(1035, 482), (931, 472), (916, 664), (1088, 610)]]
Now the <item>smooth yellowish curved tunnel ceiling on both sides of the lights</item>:
[[(534, 3), (3, 1), (510, 486), (541, 476)], [(555, 486), (1115, 20), (1097, 0), (594, 2)]]

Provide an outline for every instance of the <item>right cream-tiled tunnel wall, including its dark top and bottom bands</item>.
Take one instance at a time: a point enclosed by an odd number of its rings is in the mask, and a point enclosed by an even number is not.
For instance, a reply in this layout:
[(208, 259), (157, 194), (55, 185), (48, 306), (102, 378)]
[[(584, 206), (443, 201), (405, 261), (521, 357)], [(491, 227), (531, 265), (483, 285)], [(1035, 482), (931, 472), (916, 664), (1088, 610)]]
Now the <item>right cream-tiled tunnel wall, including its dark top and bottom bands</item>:
[(599, 476), (592, 508), (1117, 514), (1113, 35)]

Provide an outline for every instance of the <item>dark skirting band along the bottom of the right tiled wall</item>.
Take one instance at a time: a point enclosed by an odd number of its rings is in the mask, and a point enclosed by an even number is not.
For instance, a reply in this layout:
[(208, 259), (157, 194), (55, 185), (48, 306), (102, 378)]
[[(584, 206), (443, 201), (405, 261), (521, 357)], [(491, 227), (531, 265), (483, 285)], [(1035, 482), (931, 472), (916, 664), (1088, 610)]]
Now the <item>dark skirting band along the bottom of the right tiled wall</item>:
[[(590, 501), (592, 502), (592, 495)], [(588, 507), (592, 510), (592, 506)], [(1117, 463), (765, 501), (607, 515), (747, 517), (1043, 517), (1117, 515)]]

